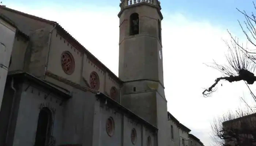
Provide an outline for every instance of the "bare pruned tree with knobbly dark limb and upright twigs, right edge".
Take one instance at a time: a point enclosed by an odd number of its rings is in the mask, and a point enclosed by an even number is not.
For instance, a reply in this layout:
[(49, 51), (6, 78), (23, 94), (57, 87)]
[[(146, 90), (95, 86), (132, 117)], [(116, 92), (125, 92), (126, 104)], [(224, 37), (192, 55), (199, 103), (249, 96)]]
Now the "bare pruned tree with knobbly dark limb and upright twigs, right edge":
[[(253, 3), (253, 5), (256, 10), (255, 3)], [(223, 74), (223, 77), (216, 78), (214, 84), (203, 91), (204, 97), (208, 97), (212, 92), (216, 91), (215, 86), (221, 80), (229, 82), (244, 81), (247, 86), (248, 84), (253, 84), (256, 81), (256, 76), (254, 75), (256, 67), (256, 48), (254, 48), (256, 47), (256, 16), (253, 12), (251, 15), (248, 15), (245, 11), (237, 10), (245, 17), (245, 21), (242, 23), (243, 25), (239, 20), (238, 23), (244, 32), (248, 43), (240, 43), (238, 38), (233, 37), (233, 35), (227, 30), (231, 38), (230, 42), (225, 41), (229, 52), (226, 55), (227, 64), (220, 65), (214, 61), (213, 65), (208, 65), (219, 70)], [(254, 94), (252, 92), (251, 94), (256, 101)]]

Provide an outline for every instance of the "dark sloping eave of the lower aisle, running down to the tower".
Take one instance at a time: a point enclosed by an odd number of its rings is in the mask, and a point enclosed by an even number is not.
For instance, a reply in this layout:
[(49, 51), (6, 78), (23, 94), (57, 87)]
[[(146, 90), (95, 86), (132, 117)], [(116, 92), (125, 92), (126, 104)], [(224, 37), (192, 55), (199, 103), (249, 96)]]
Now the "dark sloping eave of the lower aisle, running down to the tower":
[(123, 111), (124, 113), (128, 114), (132, 118), (139, 120), (140, 122), (145, 124), (147, 127), (151, 128), (151, 130), (155, 130), (155, 131), (158, 130), (157, 127), (155, 127), (152, 124), (148, 123), (146, 120), (144, 120), (140, 116), (134, 114), (132, 111), (128, 110), (123, 105), (119, 104), (118, 102), (116, 102), (115, 100), (113, 100), (110, 97), (106, 96), (105, 94), (103, 94), (101, 92), (98, 92), (97, 96), (101, 97), (101, 99), (105, 99), (108, 104), (112, 104), (112, 105), (114, 105), (114, 107), (117, 107), (119, 111)]

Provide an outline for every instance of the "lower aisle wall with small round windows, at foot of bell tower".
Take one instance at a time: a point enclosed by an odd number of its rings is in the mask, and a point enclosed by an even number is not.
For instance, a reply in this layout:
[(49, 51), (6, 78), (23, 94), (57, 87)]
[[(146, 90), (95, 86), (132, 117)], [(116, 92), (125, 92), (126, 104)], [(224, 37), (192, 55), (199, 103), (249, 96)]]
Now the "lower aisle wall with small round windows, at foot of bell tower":
[(145, 124), (143, 119), (108, 97), (105, 98), (99, 97), (95, 103), (93, 146), (157, 145), (157, 131), (151, 125)]

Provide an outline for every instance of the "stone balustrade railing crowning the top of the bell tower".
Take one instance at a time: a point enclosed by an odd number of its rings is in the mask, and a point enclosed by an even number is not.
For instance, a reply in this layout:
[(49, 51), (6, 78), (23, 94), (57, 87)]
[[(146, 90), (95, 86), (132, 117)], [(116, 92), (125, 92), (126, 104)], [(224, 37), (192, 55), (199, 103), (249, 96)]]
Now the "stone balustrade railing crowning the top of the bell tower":
[(158, 0), (121, 0), (120, 7), (121, 9), (123, 9), (124, 7), (138, 4), (138, 3), (150, 3), (153, 5), (157, 5), (159, 8), (161, 8), (160, 1)]

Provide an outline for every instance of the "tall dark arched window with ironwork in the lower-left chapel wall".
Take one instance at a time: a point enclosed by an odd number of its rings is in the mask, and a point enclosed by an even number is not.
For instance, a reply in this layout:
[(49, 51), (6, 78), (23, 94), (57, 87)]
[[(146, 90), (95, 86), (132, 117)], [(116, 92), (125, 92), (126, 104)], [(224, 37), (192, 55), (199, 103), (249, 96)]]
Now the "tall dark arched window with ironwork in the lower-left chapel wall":
[(42, 108), (39, 112), (35, 146), (45, 146), (51, 136), (52, 113), (49, 108)]

